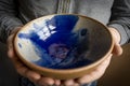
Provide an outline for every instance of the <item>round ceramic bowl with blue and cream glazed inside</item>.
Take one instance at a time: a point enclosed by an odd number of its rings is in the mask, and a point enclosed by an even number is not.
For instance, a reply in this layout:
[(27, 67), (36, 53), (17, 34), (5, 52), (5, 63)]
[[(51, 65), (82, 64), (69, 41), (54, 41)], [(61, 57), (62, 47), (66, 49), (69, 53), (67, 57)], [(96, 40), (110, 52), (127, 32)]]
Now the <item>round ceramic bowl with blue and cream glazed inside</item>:
[(93, 71), (114, 42), (102, 23), (77, 14), (53, 14), (26, 24), (15, 35), (18, 58), (43, 76), (69, 80)]

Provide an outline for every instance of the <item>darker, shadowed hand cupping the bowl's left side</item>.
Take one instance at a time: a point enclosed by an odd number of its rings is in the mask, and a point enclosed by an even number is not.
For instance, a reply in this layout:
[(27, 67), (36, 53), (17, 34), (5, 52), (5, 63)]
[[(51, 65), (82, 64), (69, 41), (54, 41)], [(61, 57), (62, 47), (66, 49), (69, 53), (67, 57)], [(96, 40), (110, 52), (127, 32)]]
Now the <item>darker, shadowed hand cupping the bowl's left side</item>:
[(18, 29), (21, 29), (21, 27), (13, 30), (12, 34), (8, 39), (8, 46), (9, 46), (8, 56), (12, 59), (16, 68), (16, 71), (21, 75), (29, 78), (34, 84), (37, 84), (39, 86), (48, 86), (48, 85), (53, 85), (53, 84), (60, 85), (61, 84), (60, 80), (53, 80), (51, 77), (44, 77), (40, 75), (36, 71), (32, 71), (29, 68), (27, 68), (25, 64), (23, 64), (23, 62), (17, 58), (14, 52), (14, 47), (13, 47), (13, 39)]

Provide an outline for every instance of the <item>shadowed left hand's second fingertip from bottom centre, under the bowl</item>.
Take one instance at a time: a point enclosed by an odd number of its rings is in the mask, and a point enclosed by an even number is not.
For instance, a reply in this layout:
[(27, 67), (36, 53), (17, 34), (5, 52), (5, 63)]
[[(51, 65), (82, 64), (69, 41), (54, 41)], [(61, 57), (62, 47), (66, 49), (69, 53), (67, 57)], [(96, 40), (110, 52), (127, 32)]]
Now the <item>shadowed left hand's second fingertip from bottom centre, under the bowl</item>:
[(38, 83), (40, 86), (49, 86), (49, 85), (54, 85), (54, 80), (50, 77), (41, 77)]

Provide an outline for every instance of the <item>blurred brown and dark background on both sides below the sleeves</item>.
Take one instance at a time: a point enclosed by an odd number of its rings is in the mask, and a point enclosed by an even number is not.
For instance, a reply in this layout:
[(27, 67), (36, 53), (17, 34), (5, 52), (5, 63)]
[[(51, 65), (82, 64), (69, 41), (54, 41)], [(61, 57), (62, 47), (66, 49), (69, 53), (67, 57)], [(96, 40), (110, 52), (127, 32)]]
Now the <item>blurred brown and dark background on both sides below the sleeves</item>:
[[(98, 86), (130, 86), (130, 44), (120, 57), (113, 57)], [(0, 43), (0, 86), (18, 86), (18, 74), (6, 56), (5, 44)]]

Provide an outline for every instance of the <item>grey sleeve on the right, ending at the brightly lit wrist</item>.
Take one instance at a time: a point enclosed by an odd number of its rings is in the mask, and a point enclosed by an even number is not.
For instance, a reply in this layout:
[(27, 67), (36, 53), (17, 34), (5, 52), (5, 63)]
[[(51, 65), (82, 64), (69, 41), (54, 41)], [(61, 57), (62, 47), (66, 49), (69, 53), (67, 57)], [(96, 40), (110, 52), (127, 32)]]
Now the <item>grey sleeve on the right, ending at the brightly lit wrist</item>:
[(115, 0), (108, 27), (116, 28), (121, 35), (120, 44), (130, 40), (130, 0)]

